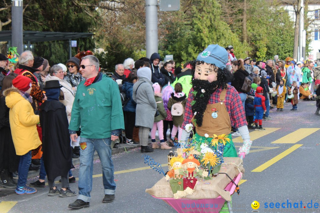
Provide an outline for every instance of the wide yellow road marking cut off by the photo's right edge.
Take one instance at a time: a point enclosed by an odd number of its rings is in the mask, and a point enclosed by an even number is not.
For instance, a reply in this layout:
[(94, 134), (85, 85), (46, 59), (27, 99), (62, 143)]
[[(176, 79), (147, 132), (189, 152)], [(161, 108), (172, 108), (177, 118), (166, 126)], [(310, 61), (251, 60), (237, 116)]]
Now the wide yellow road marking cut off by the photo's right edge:
[(318, 131), (319, 129), (320, 128), (301, 128), (292, 133), (285, 135), (282, 138), (279, 138), (276, 141), (273, 141), (272, 143), (296, 143), (304, 139), (308, 135)]

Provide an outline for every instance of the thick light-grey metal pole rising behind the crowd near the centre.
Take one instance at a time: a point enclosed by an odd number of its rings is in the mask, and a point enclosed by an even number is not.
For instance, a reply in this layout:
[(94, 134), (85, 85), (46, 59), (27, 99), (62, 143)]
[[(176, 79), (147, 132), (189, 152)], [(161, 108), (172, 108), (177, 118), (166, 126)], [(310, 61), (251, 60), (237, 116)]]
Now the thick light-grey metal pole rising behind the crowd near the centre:
[(146, 49), (147, 57), (158, 52), (158, 2), (146, 0)]

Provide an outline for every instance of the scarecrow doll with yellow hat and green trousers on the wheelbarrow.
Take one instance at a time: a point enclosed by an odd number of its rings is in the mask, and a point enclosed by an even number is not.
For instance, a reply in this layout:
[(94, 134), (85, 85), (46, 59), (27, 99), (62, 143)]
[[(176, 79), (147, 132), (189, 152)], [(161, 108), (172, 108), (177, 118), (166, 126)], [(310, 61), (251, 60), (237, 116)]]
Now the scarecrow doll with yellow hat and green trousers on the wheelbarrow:
[(178, 171), (182, 167), (183, 161), (184, 158), (181, 157), (181, 155), (179, 155), (178, 157), (172, 157), (172, 159), (170, 160), (172, 170), (168, 171), (168, 173), (165, 176), (166, 180), (172, 178), (169, 182), (173, 192), (174, 199), (179, 199), (185, 196), (182, 179), (183, 175), (175, 174), (175, 171)]

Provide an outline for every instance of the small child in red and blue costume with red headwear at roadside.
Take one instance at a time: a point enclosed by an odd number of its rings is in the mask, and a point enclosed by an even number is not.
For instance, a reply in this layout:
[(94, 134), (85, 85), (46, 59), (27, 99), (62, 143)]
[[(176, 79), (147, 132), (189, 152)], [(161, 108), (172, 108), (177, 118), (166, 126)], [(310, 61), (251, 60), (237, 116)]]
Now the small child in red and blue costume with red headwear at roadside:
[[(254, 96), (254, 99), (253, 99), (253, 105), (256, 113), (256, 118), (254, 120), (256, 128), (254, 130), (259, 130), (259, 131), (266, 130), (262, 128), (262, 117), (263, 117), (263, 114), (266, 113), (267, 111), (265, 101), (266, 101), (266, 98), (263, 96), (263, 88), (257, 87), (256, 95)], [(258, 127), (258, 123), (259, 123), (259, 127)]]

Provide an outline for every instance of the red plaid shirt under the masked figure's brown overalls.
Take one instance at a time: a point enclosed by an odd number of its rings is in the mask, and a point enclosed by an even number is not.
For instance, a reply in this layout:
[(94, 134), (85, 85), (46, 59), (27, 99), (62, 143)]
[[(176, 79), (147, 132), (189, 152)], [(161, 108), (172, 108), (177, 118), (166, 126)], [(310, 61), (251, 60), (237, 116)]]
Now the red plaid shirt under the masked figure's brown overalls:
[[(219, 97), (220, 97), (221, 91), (222, 89), (219, 88), (214, 93), (212, 93), (208, 104), (219, 103), (220, 102)], [(191, 92), (193, 92), (193, 88), (190, 89), (190, 92), (188, 95), (188, 100), (186, 103), (186, 109), (184, 113), (184, 120), (181, 127), (182, 129), (185, 129), (185, 126), (191, 123), (191, 118), (193, 117), (191, 102), (193, 101), (194, 96), (193, 96), (193, 93)], [(225, 101), (223, 103), (226, 105), (226, 108), (228, 110), (231, 126), (239, 128), (240, 126), (247, 125), (242, 101), (235, 87), (228, 86)]]

